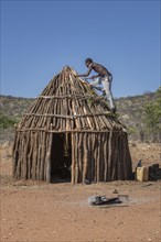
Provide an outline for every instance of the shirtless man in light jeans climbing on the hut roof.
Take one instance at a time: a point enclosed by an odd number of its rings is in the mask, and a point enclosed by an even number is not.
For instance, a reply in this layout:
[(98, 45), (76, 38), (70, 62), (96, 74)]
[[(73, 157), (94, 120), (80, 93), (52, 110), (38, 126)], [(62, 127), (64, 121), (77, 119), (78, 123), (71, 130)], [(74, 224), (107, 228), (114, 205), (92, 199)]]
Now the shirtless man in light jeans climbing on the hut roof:
[[(111, 112), (115, 113), (116, 107), (115, 107), (114, 98), (111, 94), (112, 75), (103, 65), (98, 63), (94, 63), (92, 58), (87, 58), (85, 61), (85, 65), (88, 68), (87, 73), (78, 75), (78, 76), (88, 77), (92, 70), (95, 70), (96, 73), (98, 73), (98, 75), (89, 77), (89, 79), (94, 79), (89, 85), (93, 88), (99, 91), (103, 91), (103, 95), (106, 96), (106, 98), (109, 101)], [(103, 85), (103, 87), (100, 85)]]

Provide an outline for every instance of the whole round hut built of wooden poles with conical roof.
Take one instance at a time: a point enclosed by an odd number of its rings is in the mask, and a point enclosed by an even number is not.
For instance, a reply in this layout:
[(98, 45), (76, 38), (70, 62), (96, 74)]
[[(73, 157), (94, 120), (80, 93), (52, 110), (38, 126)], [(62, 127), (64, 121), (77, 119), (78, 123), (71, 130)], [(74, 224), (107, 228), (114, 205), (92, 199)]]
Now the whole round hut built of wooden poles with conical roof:
[(73, 184), (131, 178), (127, 131), (76, 72), (65, 66), (15, 127), (13, 177)]

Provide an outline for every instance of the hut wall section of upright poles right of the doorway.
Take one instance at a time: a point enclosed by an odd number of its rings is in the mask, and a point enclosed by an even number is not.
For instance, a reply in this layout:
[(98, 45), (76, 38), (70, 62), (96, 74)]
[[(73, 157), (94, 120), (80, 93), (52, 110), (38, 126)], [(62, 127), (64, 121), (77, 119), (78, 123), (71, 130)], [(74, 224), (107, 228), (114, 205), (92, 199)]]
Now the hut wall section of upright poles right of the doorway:
[(73, 133), (72, 183), (98, 183), (130, 179), (130, 156), (127, 136), (122, 138), (124, 148), (118, 146), (119, 134)]

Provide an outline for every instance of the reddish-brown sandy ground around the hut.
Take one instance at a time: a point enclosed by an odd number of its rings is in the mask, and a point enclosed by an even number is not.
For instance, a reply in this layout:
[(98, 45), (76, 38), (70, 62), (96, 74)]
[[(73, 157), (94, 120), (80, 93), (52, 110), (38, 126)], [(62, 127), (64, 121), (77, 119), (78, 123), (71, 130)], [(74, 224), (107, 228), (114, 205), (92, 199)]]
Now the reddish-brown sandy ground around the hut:
[[(133, 168), (160, 163), (157, 144), (131, 144)], [(11, 145), (1, 146), (2, 242), (161, 241), (161, 180), (93, 185), (12, 180)], [(114, 194), (117, 189), (118, 194)], [(92, 195), (128, 195), (117, 206), (93, 207)]]

